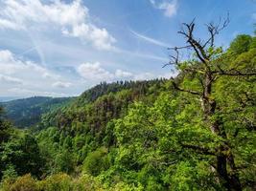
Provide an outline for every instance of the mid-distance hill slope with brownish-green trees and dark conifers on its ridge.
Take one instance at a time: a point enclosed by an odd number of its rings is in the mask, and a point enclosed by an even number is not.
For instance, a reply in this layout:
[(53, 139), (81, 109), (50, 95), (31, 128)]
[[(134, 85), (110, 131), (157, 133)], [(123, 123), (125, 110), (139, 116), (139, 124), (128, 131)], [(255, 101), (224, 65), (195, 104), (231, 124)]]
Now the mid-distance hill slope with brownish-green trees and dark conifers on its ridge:
[[(166, 79), (149, 81), (119, 81), (101, 83), (74, 99), (68, 107), (48, 112), (42, 116), (37, 129), (49, 126), (74, 132), (74, 129), (88, 125), (91, 131), (105, 128), (111, 119), (127, 114), (131, 103), (138, 100), (153, 101), (163, 91)], [(95, 137), (95, 135), (92, 135)]]

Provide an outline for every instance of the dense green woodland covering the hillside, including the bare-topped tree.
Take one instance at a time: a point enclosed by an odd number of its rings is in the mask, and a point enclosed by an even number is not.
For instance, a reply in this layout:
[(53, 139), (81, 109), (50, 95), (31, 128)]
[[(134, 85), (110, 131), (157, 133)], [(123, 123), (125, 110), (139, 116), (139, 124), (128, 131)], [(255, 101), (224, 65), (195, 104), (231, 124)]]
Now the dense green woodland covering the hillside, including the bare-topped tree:
[[(186, 46), (170, 50), (175, 78), (101, 83), (42, 109), (26, 129), (5, 115), (24, 111), (4, 105), (1, 189), (255, 190), (256, 37), (223, 50), (214, 40), (225, 25), (209, 25), (201, 41), (184, 24)], [(183, 49), (191, 56), (180, 61)], [(35, 105), (25, 117), (48, 107)]]

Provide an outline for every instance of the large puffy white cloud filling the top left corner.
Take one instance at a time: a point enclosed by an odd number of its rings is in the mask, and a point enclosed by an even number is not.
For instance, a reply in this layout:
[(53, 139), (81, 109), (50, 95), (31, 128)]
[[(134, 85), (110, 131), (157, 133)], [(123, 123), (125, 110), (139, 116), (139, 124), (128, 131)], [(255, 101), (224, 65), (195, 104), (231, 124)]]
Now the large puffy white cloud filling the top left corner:
[(62, 34), (78, 37), (99, 50), (113, 49), (116, 42), (105, 28), (98, 28), (90, 21), (89, 11), (82, 6), (81, 0), (70, 4), (59, 0), (50, 4), (41, 0), (7, 0), (4, 5), (0, 13), (0, 29), (58, 28)]

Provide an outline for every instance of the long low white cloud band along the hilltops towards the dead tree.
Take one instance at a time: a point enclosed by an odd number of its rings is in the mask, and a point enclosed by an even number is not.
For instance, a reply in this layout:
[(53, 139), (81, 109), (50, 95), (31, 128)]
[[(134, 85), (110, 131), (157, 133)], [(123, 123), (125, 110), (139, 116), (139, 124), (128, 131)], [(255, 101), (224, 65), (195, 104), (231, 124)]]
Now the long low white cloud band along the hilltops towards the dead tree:
[(80, 77), (64, 76), (31, 60), (0, 50), (0, 96), (74, 96), (74, 92), (102, 81), (145, 80), (167, 74), (132, 73), (107, 70), (100, 62), (85, 62), (73, 68)]

